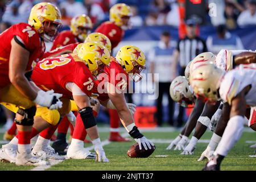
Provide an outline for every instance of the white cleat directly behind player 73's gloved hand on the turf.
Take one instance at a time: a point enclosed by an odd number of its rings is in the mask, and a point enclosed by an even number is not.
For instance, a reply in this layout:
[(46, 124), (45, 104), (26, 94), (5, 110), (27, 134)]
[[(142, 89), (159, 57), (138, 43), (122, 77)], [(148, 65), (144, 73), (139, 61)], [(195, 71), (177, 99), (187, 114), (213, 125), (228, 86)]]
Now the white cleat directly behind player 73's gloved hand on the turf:
[(96, 154), (80, 147), (69, 147), (68, 159), (96, 159)]

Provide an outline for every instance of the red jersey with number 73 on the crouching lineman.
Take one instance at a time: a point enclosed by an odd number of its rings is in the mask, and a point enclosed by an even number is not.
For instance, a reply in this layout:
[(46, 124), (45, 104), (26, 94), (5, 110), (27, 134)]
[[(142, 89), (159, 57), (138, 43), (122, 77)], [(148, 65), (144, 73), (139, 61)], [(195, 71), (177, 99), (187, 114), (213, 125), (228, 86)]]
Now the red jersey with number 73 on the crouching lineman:
[(88, 67), (75, 54), (66, 54), (39, 61), (31, 76), (42, 90), (53, 89), (63, 97), (72, 97), (72, 92), (66, 88), (68, 82), (73, 82), (86, 93), (92, 94), (93, 76)]

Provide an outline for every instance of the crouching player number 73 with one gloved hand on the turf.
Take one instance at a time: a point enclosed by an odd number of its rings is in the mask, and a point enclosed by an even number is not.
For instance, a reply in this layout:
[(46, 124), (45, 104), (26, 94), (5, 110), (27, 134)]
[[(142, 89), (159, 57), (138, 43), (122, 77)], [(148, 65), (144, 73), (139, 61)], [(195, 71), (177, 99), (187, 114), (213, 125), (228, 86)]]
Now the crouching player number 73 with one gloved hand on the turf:
[[(65, 54), (58, 57), (43, 59), (36, 64), (32, 72), (32, 81), (43, 90), (53, 89), (63, 94), (61, 101), (63, 107), (60, 110), (49, 110), (47, 107), (38, 106), (35, 114), (35, 123), (31, 138), (35, 137), (42, 131), (36, 140), (35, 146), (31, 152), (37, 158), (64, 160), (57, 155), (49, 146), (49, 139), (59, 124), (60, 116), (70, 113), (71, 102), (73, 98), (79, 110), (79, 117), (87, 130), (89, 137), (92, 139), (94, 150), (98, 155), (98, 162), (108, 162), (105, 152), (102, 148), (100, 138), (97, 132), (97, 125), (93, 116), (92, 107), (90, 107), (90, 96), (94, 86), (94, 77), (104, 70), (104, 66), (110, 61), (110, 53), (101, 44), (95, 42), (84, 43), (79, 52)], [(42, 77), (44, 79), (42, 79)], [(9, 148), (15, 150), (14, 145), (17, 143), (16, 136), (11, 140)], [(11, 150), (5, 150), (6, 156)], [(89, 155), (89, 154), (88, 154)], [(0, 157), (2, 157), (0, 155)], [(15, 156), (8, 156), (5, 160), (15, 159)], [(92, 156), (92, 158), (95, 156)]]

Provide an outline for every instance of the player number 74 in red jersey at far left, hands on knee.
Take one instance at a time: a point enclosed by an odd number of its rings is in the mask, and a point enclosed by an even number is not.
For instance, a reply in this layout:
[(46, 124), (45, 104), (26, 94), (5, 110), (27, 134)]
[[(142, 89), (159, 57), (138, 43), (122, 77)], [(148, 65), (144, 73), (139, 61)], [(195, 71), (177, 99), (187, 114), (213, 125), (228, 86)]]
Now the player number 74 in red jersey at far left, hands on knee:
[(15, 118), (20, 136), (17, 165), (39, 165), (43, 162), (31, 156), (29, 147), (35, 104), (49, 109), (58, 109), (62, 104), (59, 101), (61, 94), (40, 90), (25, 76), (43, 56), (44, 41), (52, 41), (57, 35), (60, 21), (60, 11), (56, 6), (38, 3), (32, 7), (28, 23), (14, 24), (0, 35), (1, 104), (19, 106)]

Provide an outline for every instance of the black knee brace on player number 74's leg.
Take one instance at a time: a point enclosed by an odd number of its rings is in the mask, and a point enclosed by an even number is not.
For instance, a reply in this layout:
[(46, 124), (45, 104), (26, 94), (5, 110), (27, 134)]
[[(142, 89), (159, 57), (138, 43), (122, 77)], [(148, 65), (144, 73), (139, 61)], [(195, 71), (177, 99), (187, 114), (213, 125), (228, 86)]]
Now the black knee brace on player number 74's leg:
[(32, 106), (28, 109), (19, 108), (17, 113), (23, 116), (22, 120), (15, 119), (15, 123), (17, 125), (32, 126), (34, 124), (34, 116), (36, 113), (36, 106)]

